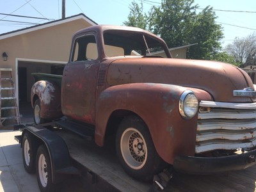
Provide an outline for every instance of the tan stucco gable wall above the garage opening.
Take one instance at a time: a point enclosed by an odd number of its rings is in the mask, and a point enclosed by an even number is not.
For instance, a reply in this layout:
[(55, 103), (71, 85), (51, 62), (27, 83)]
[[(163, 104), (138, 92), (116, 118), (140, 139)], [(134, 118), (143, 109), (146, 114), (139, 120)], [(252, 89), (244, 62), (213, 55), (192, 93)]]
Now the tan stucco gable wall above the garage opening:
[[(89, 26), (92, 26), (92, 24), (86, 22), (86, 20), (77, 19), (4, 38), (0, 40), (0, 67), (12, 68), (15, 82), (17, 77), (17, 58), (67, 62), (72, 35), (76, 31)], [(8, 54), (7, 61), (3, 61), (3, 52)]]

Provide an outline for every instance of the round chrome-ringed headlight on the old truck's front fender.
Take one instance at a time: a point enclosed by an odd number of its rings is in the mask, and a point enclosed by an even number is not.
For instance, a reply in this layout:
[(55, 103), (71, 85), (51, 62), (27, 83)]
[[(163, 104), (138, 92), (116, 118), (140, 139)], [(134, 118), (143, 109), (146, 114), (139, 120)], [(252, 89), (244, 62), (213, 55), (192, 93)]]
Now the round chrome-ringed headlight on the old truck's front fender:
[(193, 92), (187, 90), (182, 93), (179, 101), (179, 111), (183, 118), (192, 118), (198, 111), (198, 100)]

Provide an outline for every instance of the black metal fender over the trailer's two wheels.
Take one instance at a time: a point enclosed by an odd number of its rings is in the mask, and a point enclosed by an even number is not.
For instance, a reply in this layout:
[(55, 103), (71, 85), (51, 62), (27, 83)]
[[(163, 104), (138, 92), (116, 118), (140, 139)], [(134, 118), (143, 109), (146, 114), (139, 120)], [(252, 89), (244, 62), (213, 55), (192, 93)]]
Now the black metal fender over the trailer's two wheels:
[(51, 159), (52, 183), (63, 181), (65, 175), (68, 174), (80, 174), (79, 171), (72, 166), (67, 145), (58, 134), (40, 125), (27, 126), (22, 131), (21, 143), (25, 132), (29, 132), (33, 135), (33, 140), (36, 140), (38, 144), (37, 147), (43, 143), (47, 147)]

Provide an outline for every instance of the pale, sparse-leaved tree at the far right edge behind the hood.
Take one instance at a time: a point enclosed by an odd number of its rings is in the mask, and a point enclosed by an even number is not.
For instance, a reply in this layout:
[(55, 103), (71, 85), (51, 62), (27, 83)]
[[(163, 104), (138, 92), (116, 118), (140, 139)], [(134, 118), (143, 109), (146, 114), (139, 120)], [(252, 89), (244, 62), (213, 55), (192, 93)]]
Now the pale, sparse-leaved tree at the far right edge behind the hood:
[(256, 33), (241, 39), (236, 38), (234, 42), (225, 47), (225, 51), (234, 56), (237, 63), (250, 65), (256, 59)]

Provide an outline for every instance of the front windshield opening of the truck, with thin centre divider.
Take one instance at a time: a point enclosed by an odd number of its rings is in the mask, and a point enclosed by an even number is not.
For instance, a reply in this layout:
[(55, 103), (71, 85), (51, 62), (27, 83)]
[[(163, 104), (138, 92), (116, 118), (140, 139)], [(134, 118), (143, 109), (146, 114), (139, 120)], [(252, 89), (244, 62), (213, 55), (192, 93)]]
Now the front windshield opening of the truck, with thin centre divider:
[(106, 31), (104, 33), (104, 44), (104, 50), (108, 57), (167, 57), (163, 42), (134, 31)]

